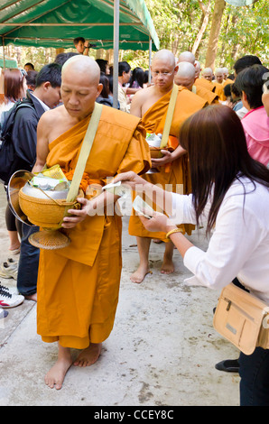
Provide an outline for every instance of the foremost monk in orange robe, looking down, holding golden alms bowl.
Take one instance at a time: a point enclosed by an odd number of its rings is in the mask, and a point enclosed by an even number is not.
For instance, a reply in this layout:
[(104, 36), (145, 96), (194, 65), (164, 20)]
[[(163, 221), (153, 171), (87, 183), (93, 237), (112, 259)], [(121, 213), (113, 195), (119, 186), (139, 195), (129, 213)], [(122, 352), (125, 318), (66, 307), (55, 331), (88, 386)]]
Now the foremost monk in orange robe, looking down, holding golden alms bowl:
[[(72, 179), (95, 100), (102, 90), (99, 77), (96, 61), (88, 56), (74, 56), (65, 63), (60, 88), (63, 105), (42, 116), (34, 172), (41, 171), (44, 164), (48, 168), (60, 165)], [(58, 360), (45, 376), (51, 388), (61, 388), (71, 364), (95, 363), (114, 325), (122, 266), (121, 217), (108, 214), (107, 207), (102, 212), (104, 202), (112, 202), (114, 207), (118, 198), (102, 191), (102, 186), (123, 170), (143, 173), (150, 168), (144, 136), (138, 117), (102, 106), (80, 184), (83, 207), (70, 210), (71, 216), (62, 223), (71, 242), (58, 250), (41, 249), (37, 332), (43, 341), (58, 342), (59, 347)], [(92, 185), (95, 190), (91, 190)], [(70, 348), (81, 350), (74, 363)]]

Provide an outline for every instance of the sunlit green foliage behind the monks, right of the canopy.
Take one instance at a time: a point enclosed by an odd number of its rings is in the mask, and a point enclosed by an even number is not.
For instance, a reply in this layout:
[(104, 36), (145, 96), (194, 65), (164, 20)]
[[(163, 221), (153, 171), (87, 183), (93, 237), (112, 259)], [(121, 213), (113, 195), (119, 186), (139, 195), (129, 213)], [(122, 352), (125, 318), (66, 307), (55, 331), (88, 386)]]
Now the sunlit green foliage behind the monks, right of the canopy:
[[(153, 17), (162, 49), (172, 50), (177, 56), (181, 51), (191, 51), (202, 22), (203, 13), (198, 0), (145, 0)], [(158, 3), (158, 5), (157, 5)], [(208, 6), (209, 0), (203, 0)], [(197, 52), (204, 63), (208, 49), (209, 31), (215, 2), (210, 5), (210, 20)], [(268, 66), (268, 0), (259, 0), (254, 5), (235, 7), (226, 5), (218, 38), (216, 67), (232, 67), (238, 57), (257, 55)]]

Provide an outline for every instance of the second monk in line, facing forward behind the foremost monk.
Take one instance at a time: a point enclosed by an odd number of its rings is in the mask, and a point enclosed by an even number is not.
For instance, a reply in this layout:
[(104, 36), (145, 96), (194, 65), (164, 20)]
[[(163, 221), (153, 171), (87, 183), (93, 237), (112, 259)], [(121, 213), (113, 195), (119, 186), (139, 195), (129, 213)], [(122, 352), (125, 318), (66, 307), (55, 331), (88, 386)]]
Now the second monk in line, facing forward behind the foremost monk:
[[(174, 77), (178, 67), (171, 51), (161, 50), (155, 53), (152, 62), (153, 86), (138, 91), (133, 97), (130, 112), (142, 118), (142, 124), (147, 133), (162, 134), (167, 109), (169, 106)], [(183, 192), (188, 191), (188, 157), (179, 143), (179, 130), (182, 122), (196, 110), (201, 109), (207, 102), (191, 93), (188, 89), (179, 87), (177, 102), (172, 117), (170, 128), (170, 138), (168, 147), (170, 150), (162, 150), (161, 159), (152, 159), (153, 167), (158, 172), (154, 174), (144, 174), (146, 180), (153, 184), (161, 184), (163, 188), (170, 187), (175, 191), (181, 186)], [(168, 186), (169, 185), (169, 186)], [(191, 234), (193, 226), (182, 226), (182, 232)], [(135, 235), (138, 246), (140, 263), (138, 269), (131, 275), (131, 280), (136, 283), (144, 281), (144, 277), (149, 270), (149, 251), (151, 239), (165, 241), (165, 252), (162, 262), (162, 273), (174, 271), (172, 263), (173, 246), (165, 240), (163, 233), (147, 232), (141, 224), (139, 217), (133, 214), (130, 217), (129, 233)]]

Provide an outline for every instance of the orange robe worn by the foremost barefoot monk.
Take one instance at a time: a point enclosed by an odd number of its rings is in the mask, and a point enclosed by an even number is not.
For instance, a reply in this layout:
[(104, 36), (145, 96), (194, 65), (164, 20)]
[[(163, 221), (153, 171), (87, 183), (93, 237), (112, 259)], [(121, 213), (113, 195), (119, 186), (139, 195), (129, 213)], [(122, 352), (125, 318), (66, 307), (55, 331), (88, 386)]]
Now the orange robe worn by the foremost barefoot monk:
[[(76, 167), (89, 117), (49, 144), (47, 166)], [(99, 188), (119, 172), (142, 173), (151, 158), (139, 118), (103, 106), (85, 171)], [(110, 215), (109, 215), (110, 214)], [(45, 342), (82, 349), (100, 343), (114, 325), (122, 267), (121, 217), (86, 217), (67, 230), (70, 245), (42, 250), (37, 286), (37, 332)]]

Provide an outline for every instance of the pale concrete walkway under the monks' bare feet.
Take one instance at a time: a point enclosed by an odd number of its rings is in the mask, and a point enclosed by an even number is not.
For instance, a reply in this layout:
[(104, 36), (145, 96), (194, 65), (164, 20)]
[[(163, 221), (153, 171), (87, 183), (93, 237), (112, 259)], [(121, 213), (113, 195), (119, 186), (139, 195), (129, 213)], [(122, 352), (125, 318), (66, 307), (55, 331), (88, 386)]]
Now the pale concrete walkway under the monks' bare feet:
[[(0, 188), (0, 261), (8, 257), (5, 192)], [(151, 270), (130, 281), (138, 265), (135, 237), (123, 218), (123, 272), (116, 322), (102, 355), (88, 368), (71, 367), (60, 391), (43, 383), (57, 358), (56, 344), (36, 334), (36, 305), (24, 300), (0, 319), (1, 406), (237, 406), (239, 377), (215, 364), (237, 349), (212, 327), (218, 293), (190, 288), (190, 272), (175, 251), (176, 270), (160, 273), (163, 244), (152, 244)], [(206, 249), (204, 237), (190, 240)], [(15, 286), (15, 281), (1, 280)], [(74, 351), (74, 355), (77, 352)]]

